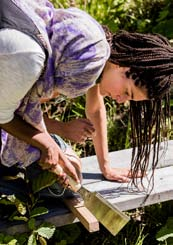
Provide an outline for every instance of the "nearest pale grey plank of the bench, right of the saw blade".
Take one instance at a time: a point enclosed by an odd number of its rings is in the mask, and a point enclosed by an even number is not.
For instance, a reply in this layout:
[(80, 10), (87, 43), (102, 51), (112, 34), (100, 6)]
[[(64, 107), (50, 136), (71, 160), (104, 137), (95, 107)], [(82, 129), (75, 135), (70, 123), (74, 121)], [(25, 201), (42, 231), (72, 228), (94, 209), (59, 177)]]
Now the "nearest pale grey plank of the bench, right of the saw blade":
[[(104, 198), (116, 204), (121, 210), (130, 210), (142, 206), (148, 206), (155, 203), (173, 200), (173, 168), (165, 167), (157, 169), (154, 177), (154, 188), (150, 193), (140, 191), (130, 191), (130, 187), (121, 186), (118, 195), (114, 190), (102, 190)], [(147, 180), (145, 186), (147, 188)], [(111, 195), (110, 195), (111, 192)], [(149, 194), (149, 195), (148, 195)]]

